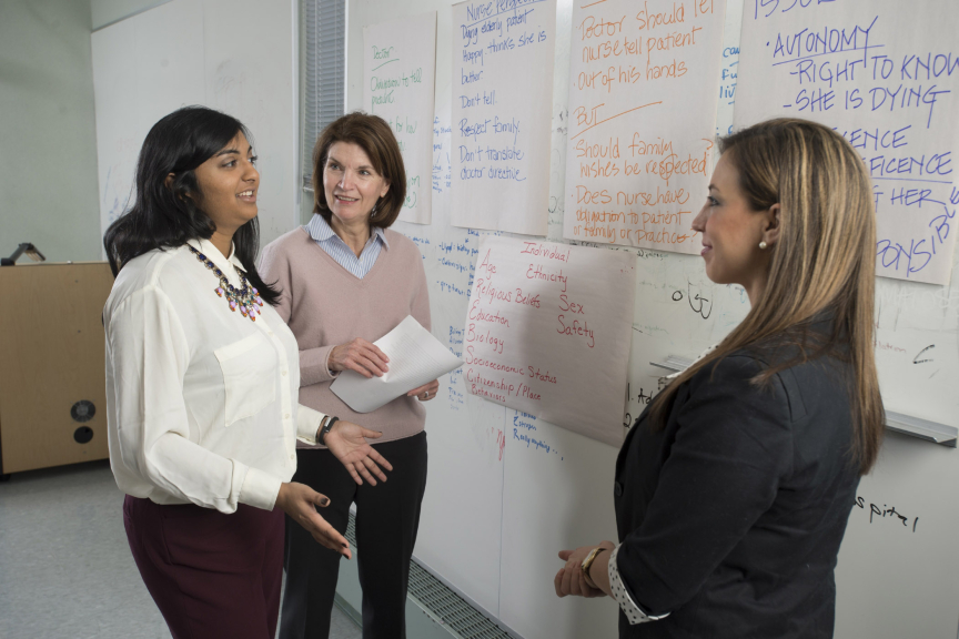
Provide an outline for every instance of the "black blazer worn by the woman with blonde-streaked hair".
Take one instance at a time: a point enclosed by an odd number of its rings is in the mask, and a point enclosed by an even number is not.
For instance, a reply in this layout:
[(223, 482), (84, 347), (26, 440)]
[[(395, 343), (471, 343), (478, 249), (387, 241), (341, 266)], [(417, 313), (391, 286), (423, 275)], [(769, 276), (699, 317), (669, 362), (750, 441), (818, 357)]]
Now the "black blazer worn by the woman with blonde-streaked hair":
[(832, 570), (859, 484), (849, 365), (821, 357), (758, 388), (768, 365), (735, 353), (647, 413), (616, 462), (617, 557), (647, 613), (620, 637), (832, 637)]

